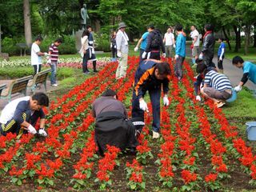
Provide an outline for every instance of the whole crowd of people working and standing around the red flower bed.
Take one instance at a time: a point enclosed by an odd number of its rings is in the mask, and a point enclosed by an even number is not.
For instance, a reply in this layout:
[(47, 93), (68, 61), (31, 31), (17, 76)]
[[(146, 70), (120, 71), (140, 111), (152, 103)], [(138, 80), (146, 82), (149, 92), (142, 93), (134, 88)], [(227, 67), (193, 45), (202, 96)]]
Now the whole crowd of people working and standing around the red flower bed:
[[(126, 24), (120, 22), (118, 31), (111, 35), (111, 50), (113, 58), (118, 57), (118, 68), (115, 78), (126, 78), (127, 59), (129, 52), (129, 38), (126, 34)], [(213, 62), (214, 58), (214, 26), (205, 25), (205, 34), (202, 37), (202, 49), (200, 50), (200, 34), (195, 26), (191, 26), (190, 38), (192, 44), (192, 64), (196, 66), (197, 76), (194, 81), (194, 91), (196, 100), (201, 101), (202, 94), (205, 98), (214, 101), (216, 107), (222, 107), (235, 92), (242, 90), (242, 86), (250, 79), (256, 84), (256, 66), (251, 62), (245, 62), (241, 57), (233, 58), (232, 63), (238, 68), (242, 68), (243, 76), (238, 86), (232, 87), (229, 78), (223, 74), (223, 59), (225, 54), (225, 43), (222, 38), (218, 39), (218, 68)], [(176, 31), (176, 39), (174, 36)], [(96, 56), (94, 53), (94, 38), (91, 34), (91, 26), (87, 26), (82, 33), (82, 47), (79, 53), (82, 55), (82, 71), (89, 74), (87, 62), (93, 62), (94, 72), (96, 70)], [(41, 70), (42, 56), (47, 56), (47, 63), (50, 65), (52, 74), (50, 82), (52, 86), (58, 86), (56, 82), (56, 69), (58, 65), (58, 46), (62, 40), (56, 39), (50, 47), (48, 53), (42, 53), (39, 45), (42, 38), (35, 39), (31, 47), (31, 64), (34, 66), (34, 74)], [(121, 150), (127, 148), (134, 152), (138, 146), (138, 136), (142, 132), (144, 123), (144, 113), (149, 113), (148, 106), (144, 100), (146, 93), (150, 96), (152, 105), (152, 137), (160, 137), (160, 99), (163, 92), (163, 104), (169, 106), (169, 82), (170, 64), (161, 61), (163, 58), (171, 58), (174, 62), (174, 75), (182, 82), (182, 65), (186, 58), (186, 34), (182, 25), (178, 24), (168, 27), (166, 34), (155, 29), (153, 25), (147, 27), (147, 31), (142, 34), (134, 51), (139, 52), (138, 68), (134, 74), (132, 92), (132, 117), (128, 118), (126, 107), (118, 101), (118, 93), (114, 90), (106, 90), (99, 98), (92, 103), (92, 114), (95, 118), (95, 142), (98, 145), (98, 153), (103, 155), (106, 145), (118, 146)], [(173, 54), (173, 52), (175, 54)], [(6, 136), (8, 133), (17, 134), (20, 138), (22, 134), (38, 134), (47, 136), (45, 128), (45, 114), (43, 106), (49, 105), (49, 98), (46, 94), (37, 93), (31, 97), (18, 98), (10, 102), (2, 110), (0, 116), (0, 133)], [(40, 129), (34, 128), (40, 118)]]

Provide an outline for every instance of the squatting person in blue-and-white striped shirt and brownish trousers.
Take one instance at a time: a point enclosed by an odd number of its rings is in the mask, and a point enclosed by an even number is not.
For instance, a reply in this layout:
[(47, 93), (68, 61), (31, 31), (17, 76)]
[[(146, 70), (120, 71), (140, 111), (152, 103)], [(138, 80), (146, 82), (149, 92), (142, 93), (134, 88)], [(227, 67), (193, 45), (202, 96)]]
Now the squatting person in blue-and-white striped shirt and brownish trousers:
[(226, 104), (226, 100), (232, 96), (230, 79), (225, 74), (219, 74), (214, 70), (205, 70), (204, 85), (201, 93), (214, 101), (219, 108)]

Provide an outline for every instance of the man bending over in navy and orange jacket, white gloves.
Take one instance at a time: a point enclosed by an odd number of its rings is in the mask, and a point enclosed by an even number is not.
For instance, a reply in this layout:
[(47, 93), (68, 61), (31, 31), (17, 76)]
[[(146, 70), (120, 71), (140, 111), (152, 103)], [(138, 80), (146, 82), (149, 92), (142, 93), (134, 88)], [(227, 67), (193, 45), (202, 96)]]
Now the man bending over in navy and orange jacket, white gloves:
[(134, 77), (132, 118), (144, 120), (144, 111), (148, 111), (144, 96), (149, 91), (153, 109), (153, 138), (159, 138), (160, 134), (160, 97), (161, 87), (164, 97), (163, 104), (169, 106), (167, 96), (170, 82), (170, 65), (155, 59), (144, 60), (138, 66)]

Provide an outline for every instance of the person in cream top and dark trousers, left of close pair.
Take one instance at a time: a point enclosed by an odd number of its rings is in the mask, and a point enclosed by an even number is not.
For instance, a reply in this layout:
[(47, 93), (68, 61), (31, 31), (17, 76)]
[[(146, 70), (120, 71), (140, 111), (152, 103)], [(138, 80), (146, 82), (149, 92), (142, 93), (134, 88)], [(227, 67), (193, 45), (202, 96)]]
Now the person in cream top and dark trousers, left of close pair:
[(82, 56), (82, 72), (83, 74), (90, 74), (90, 71), (88, 70), (88, 60), (90, 58), (90, 48), (89, 48), (89, 30), (84, 30), (82, 32), (82, 38), (81, 38), (81, 49), (79, 50), (79, 53)]

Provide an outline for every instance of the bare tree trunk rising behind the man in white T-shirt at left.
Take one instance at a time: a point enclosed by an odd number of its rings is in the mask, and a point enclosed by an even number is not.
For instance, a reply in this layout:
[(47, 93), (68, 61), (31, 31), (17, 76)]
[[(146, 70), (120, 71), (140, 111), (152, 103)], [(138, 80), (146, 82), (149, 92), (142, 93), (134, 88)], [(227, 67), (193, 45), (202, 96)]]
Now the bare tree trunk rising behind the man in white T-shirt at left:
[(24, 14), (24, 28), (26, 45), (30, 46), (32, 43), (31, 23), (30, 23), (30, 1), (23, 0), (23, 14)]

